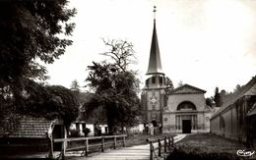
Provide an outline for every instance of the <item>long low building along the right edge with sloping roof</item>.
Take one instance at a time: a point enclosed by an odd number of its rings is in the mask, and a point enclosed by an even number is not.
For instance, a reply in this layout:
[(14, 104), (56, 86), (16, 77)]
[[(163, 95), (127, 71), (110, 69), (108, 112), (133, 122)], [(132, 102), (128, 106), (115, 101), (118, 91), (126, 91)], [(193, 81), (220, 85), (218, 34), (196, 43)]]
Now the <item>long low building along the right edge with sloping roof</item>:
[(211, 118), (211, 133), (256, 146), (256, 77), (243, 85)]

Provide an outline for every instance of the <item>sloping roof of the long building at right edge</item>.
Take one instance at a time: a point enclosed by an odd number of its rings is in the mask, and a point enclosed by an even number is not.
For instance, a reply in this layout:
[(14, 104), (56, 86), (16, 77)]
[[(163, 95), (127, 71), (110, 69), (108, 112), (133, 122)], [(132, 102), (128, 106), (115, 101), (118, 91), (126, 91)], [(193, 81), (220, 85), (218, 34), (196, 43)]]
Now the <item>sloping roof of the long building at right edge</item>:
[(248, 92), (253, 86), (254, 84), (256, 84), (256, 76), (252, 78), (252, 80), (250, 80), (249, 82), (247, 82), (245, 85), (243, 85), (241, 87), (241, 89), (239, 89), (237, 91), (237, 93), (235, 93), (234, 96), (232, 96), (231, 98), (225, 99), (224, 104), (222, 105), (221, 109), (218, 110), (213, 116), (212, 118), (216, 117), (217, 115), (219, 115), (220, 113), (222, 113), (228, 106), (230, 106), (231, 104), (233, 104), (236, 100), (238, 100), (239, 98), (243, 97), (246, 92)]

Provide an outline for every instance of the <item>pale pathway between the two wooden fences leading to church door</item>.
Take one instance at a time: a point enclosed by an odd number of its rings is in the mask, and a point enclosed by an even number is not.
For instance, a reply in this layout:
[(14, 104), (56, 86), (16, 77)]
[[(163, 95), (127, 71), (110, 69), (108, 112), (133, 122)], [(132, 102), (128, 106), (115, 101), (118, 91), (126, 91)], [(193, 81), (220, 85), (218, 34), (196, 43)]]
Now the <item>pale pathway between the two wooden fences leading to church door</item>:
[[(186, 134), (178, 134), (174, 137), (174, 142), (184, 138)], [(157, 144), (155, 144), (157, 146)], [(92, 154), (88, 157), (78, 157), (75, 155), (67, 155), (68, 160), (149, 160), (150, 144), (136, 145), (120, 149), (108, 149), (103, 153)]]

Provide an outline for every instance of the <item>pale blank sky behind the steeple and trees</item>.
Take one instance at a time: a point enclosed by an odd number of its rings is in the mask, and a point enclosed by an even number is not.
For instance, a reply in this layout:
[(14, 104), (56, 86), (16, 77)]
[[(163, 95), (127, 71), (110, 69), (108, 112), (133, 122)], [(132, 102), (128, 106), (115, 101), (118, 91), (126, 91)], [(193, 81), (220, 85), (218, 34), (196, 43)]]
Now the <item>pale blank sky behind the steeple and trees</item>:
[[(174, 86), (182, 80), (214, 95), (256, 76), (256, 0), (71, 0), (78, 11), (73, 45), (47, 65), (49, 84), (86, 84), (87, 66), (107, 57), (104, 39), (134, 44), (144, 87), (157, 6), (162, 70)], [(81, 88), (82, 90), (86, 88)]]

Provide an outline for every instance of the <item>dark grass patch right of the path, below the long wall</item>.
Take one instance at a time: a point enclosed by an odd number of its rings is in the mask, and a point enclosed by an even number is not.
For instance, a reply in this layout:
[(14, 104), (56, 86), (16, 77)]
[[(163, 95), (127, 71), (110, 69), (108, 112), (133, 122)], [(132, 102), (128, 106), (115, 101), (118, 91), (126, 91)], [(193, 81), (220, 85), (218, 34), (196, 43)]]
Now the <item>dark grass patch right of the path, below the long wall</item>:
[(174, 145), (173, 151), (167, 160), (243, 160), (244, 158), (256, 159), (256, 156), (241, 157), (237, 150), (250, 150), (243, 143), (226, 139), (212, 133), (189, 134)]

